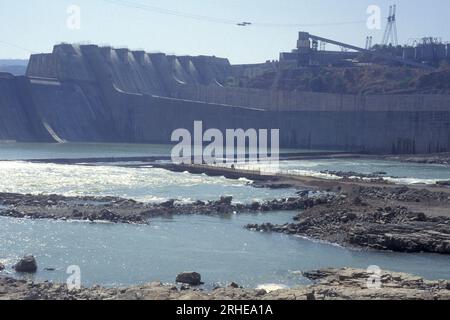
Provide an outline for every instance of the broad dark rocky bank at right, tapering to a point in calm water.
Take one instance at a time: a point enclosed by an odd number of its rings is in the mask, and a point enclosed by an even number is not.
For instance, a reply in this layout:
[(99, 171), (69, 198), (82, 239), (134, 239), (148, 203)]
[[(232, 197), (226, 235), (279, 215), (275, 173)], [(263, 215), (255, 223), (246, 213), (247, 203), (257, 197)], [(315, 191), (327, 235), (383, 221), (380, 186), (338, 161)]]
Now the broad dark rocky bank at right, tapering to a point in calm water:
[(344, 246), (450, 254), (450, 198), (407, 187), (361, 187), (306, 208), (294, 223), (246, 227)]

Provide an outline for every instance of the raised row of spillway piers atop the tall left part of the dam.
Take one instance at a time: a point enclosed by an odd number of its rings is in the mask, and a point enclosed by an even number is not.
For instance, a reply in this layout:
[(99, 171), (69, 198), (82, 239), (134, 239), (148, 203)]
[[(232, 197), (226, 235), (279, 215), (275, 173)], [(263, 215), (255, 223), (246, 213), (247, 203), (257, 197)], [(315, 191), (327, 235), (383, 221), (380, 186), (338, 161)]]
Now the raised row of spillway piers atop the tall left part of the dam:
[(232, 73), (227, 59), (173, 56), (96, 45), (56, 45), (51, 54), (30, 58), (27, 76), (56, 78), (60, 81), (95, 81), (87, 53), (98, 56), (108, 81), (119, 91), (170, 96), (173, 87), (184, 84), (223, 83)]

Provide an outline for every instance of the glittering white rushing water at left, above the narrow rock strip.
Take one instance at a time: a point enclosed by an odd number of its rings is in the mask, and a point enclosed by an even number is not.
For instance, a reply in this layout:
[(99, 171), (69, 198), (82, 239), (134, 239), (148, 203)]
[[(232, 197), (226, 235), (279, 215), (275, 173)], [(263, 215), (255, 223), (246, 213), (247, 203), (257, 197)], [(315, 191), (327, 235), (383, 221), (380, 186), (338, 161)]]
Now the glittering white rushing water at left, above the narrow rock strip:
[(292, 196), (294, 190), (256, 189), (246, 179), (173, 173), (157, 168), (60, 165), (0, 161), (0, 192), (117, 196), (143, 202), (217, 200), (237, 202)]

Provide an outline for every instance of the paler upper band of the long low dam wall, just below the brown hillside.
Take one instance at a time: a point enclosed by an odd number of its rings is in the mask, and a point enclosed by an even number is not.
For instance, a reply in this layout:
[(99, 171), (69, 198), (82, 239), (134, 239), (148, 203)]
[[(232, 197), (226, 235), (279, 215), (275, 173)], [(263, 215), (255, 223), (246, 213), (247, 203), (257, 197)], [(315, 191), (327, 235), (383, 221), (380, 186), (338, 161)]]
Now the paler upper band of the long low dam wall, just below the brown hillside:
[(450, 95), (349, 95), (262, 90), (214, 85), (177, 85), (171, 97), (269, 111), (448, 111)]

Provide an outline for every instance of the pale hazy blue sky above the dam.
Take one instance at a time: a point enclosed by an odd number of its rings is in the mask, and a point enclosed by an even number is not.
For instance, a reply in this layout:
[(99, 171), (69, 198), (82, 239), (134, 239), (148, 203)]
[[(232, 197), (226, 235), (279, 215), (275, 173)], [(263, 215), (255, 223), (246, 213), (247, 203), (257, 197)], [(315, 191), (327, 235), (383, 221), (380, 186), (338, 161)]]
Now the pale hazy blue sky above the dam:
[[(368, 35), (381, 42), (391, 4), (401, 43), (450, 41), (448, 0), (0, 0), (0, 59), (67, 42), (259, 63), (295, 48), (298, 31), (362, 47)], [(67, 26), (71, 5), (80, 8), (80, 29)], [(381, 30), (366, 25), (371, 5), (381, 8)], [(253, 25), (236, 25), (243, 21)]]

